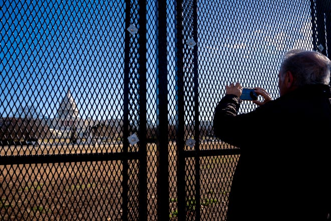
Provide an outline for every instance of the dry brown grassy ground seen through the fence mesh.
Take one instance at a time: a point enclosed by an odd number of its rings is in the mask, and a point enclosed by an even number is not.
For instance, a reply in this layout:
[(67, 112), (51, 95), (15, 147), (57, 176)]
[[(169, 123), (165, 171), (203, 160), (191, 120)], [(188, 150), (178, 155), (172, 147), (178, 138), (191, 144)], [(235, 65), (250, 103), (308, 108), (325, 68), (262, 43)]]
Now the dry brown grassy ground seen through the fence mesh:
[[(120, 144), (52, 147), (7, 147), (1, 156), (121, 152)], [(176, 143), (169, 143), (169, 220), (177, 220)], [(225, 148), (206, 143), (202, 148)], [(137, 151), (132, 149), (132, 151)], [(147, 218), (156, 220), (157, 151), (147, 149)], [(0, 158), (1, 159), (1, 158)], [(198, 159), (198, 158), (197, 158)], [(197, 159), (186, 159), (186, 216), (195, 219)], [(236, 156), (200, 157), (201, 220), (223, 220)], [(123, 168), (126, 168), (125, 170)], [(125, 172), (127, 171), (127, 173)], [(139, 161), (111, 160), (0, 165), (0, 220), (128, 220), (139, 219)], [(127, 179), (127, 185), (123, 185)], [(127, 195), (127, 197), (125, 197)], [(124, 205), (127, 205), (124, 206)], [(125, 219), (124, 219), (125, 220)]]

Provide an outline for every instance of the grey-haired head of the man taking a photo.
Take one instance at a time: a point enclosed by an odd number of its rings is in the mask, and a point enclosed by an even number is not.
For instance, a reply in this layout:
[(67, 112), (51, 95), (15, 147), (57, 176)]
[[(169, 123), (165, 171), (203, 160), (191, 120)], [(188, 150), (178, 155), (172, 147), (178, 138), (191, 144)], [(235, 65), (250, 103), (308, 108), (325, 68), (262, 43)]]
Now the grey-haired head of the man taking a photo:
[(280, 65), (280, 96), (307, 84), (329, 84), (331, 61), (316, 51), (293, 49), (286, 52)]

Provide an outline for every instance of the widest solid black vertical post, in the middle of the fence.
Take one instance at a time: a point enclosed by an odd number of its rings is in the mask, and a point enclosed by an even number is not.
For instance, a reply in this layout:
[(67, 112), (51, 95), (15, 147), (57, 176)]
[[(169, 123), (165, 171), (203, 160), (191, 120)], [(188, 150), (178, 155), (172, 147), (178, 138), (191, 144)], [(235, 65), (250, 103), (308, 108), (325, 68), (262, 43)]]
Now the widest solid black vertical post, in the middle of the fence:
[(157, 220), (169, 220), (167, 1), (157, 4)]

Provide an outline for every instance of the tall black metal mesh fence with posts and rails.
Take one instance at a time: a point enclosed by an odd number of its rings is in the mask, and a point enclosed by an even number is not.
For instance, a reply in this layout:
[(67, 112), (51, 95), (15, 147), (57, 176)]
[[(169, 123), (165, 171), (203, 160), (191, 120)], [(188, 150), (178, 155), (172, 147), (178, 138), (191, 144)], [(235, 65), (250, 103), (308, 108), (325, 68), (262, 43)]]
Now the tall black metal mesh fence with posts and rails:
[(0, 4), (1, 220), (224, 220), (225, 85), (276, 98), (285, 51), (331, 56), (327, 0)]

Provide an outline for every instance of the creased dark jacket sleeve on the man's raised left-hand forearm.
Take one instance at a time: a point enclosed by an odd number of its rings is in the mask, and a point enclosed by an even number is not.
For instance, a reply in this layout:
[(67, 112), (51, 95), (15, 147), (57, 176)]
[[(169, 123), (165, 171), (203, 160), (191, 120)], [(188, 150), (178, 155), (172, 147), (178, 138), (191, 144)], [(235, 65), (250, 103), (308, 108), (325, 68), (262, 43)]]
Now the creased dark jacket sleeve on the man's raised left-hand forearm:
[(229, 143), (235, 142), (237, 133), (232, 130), (231, 123), (234, 123), (239, 107), (239, 97), (234, 94), (226, 94), (217, 104), (213, 119), (214, 135), (217, 138)]

